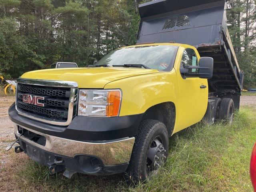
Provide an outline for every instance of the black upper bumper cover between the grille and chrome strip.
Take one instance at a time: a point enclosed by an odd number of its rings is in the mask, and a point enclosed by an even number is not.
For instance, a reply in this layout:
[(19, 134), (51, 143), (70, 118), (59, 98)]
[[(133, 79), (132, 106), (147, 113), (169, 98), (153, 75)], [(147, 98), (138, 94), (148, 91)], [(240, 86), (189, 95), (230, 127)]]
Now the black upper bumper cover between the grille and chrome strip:
[(56, 126), (32, 120), (17, 113), (15, 105), (9, 108), (12, 122), (56, 137), (96, 142), (135, 136), (143, 114), (112, 118), (75, 116), (69, 126)]

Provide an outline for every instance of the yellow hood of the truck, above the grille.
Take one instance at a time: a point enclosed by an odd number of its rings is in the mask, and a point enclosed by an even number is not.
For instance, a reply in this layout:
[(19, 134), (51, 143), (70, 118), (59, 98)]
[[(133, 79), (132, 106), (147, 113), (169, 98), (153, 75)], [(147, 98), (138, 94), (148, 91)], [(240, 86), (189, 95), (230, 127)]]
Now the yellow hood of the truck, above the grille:
[(21, 78), (74, 81), (78, 83), (78, 88), (104, 88), (115, 80), (158, 72), (154, 69), (123, 67), (65, 68), (26, 72)]

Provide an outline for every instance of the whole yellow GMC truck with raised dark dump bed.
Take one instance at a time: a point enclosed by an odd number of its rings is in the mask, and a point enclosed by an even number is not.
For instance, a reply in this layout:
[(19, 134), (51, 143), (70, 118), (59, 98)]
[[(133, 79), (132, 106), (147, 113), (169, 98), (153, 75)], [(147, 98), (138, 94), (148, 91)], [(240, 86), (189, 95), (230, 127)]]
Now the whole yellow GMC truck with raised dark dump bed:
[(201, 120), (231, 123), (243, 72), (226, 8), (225, 0), (141, 4), (136, 45), (88, 68), (23, 74), (9, 109), (15, 152), (50, 174), (125, 172), (138, 181), (162, 166), (176, 132)]

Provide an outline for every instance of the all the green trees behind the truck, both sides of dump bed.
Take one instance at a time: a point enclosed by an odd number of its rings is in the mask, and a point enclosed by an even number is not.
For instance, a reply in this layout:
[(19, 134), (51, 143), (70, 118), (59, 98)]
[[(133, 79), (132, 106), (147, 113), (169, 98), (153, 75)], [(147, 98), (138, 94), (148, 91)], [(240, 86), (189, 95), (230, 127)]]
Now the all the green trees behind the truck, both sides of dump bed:
[[(0, 72), (17, 78), (58, 61), (88, 66), (136, 43), (138, 5), (150, 0), (0, 0)], [(234, 0), (228, 27), (245, 86), (256, 86), (256, 0)]]

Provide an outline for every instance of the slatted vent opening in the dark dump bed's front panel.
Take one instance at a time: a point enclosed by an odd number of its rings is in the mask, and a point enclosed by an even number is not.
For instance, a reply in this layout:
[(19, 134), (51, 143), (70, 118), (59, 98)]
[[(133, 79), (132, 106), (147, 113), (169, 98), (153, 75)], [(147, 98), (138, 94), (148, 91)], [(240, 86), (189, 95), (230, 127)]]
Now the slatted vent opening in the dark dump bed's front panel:
[(170, 28), (173, 28), (174, 26), (182, 27), (186, 25), (189, 25), (189, 18), (188, 16), (183, 15), (178, 17), (172, 17), (166, 20), (162, 29), (170, 29)]

